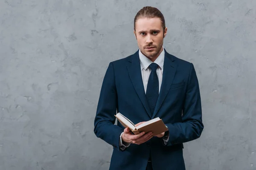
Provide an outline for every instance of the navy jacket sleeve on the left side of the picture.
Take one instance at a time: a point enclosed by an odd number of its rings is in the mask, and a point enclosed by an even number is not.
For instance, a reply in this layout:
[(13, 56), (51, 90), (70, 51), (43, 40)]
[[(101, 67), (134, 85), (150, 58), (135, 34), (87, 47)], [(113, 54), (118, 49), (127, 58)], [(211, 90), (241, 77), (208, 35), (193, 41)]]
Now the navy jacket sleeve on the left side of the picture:
[(96, 116), (94, 120), (94, 133), (97, 137), (111, 144), (114, 149), (119, 148), (119, 137), (123, 132), (122, 127), (114, 125), (117, 109), (117, 94), (115, 74), (111, 62), (102, 82)]

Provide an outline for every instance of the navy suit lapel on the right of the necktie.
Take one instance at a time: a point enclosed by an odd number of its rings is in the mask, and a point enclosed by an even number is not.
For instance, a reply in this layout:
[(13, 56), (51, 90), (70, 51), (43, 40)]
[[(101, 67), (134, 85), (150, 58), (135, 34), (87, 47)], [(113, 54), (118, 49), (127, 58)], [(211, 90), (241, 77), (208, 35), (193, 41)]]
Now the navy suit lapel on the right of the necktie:
[(168, 54), (165, 50), (165, 58), (163, 63), (163, 80), (162, 80), (162, 85), (161, 85), (160, 93), (158, 96), (157, 104), (156, 104), (154, 113), (151, 117), (152, 119), (154, 118), (154, 116), (156, 116), (157, 112), (159, 111), (172, 85), (172, 81), (174, 79), (175, 72), (177, 69), (177, 65), (174, 61), (175, 60), (174, 58), (172, 58), (172, 55)]

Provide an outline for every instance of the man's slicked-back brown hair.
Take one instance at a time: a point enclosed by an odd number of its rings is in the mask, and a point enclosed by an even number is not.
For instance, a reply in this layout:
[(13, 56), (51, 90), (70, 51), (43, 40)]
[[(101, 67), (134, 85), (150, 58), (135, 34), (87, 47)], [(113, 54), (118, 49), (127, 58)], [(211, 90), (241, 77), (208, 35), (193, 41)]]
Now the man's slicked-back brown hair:
[(140, 11), (138, 11), (136, 16), (134, 17), (134, 31), (135, 31), (136, 21), (138, 19), (144, 18), (144, 17), (145, 18), (154, 18), (154, 17), (160, 18), (160, 20), (162, 22), (163, 30), (166, 28), (163, 14), (159, 11), (159, 9), (151, 7), (151, 6), (145, 6)]

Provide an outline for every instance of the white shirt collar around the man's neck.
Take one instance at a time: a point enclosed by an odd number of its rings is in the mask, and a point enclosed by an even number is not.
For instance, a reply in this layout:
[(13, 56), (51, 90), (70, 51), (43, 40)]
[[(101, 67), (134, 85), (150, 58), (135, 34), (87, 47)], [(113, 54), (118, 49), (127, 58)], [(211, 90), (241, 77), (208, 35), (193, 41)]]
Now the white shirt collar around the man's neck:
[[(157, 65), (159, 65), (160, 69), (163, 70), (163, 63), (164, 63), (164, 48), (157, 59), (154, 61)], [(148, 59), (142, 52), (139, 50), (139, 57), (140, 57), (140, 65), (142, 66), (141, 69), (146, 70), (148, 66), (152, 63), (150, 59)]]

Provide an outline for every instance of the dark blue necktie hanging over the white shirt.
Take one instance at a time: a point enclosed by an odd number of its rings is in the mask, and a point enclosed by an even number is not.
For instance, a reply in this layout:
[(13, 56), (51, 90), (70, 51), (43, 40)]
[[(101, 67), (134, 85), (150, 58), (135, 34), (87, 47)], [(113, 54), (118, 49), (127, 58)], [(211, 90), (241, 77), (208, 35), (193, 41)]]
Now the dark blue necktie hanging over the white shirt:
[(157, 99), (159, 96), (159, 82), (157, 77), (157, 67), (158, 65), (156, 63), (151, 63), (151, 65), (149, 65), (149, 68), (151, 69), (151, 73), (148, 78), (146, 97), (148, 100), (148, 106), (151, 112), (151, 116), (154, 113), (154, 108), (156, 107)]

